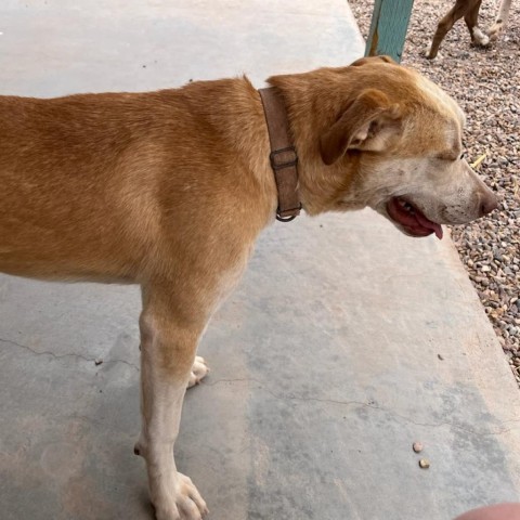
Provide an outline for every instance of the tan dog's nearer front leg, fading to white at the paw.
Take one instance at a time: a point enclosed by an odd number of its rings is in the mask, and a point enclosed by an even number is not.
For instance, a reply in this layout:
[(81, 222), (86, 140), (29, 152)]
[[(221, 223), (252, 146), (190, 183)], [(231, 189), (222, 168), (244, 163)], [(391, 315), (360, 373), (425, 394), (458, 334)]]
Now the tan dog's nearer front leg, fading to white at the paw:
[[(155, 299), (154, 299), (155, 298)], [(135, 453), (146, 460), (157, 520), (198, 520), (207, 512), (195, 485), (173, 458), (182, 402), (204, 329), (176, 316), (174, 304), (143, 291), (141, 328), (142, 431)]]

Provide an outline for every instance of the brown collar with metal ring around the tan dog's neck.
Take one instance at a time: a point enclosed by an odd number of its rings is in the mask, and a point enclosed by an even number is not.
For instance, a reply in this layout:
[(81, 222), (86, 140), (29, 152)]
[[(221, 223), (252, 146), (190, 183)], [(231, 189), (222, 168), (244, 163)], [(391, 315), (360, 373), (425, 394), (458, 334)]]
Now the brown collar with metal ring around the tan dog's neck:
[(298, 196), (298, 155), (289, 138), (289, 122), (284, 100), (276, 87), (259, 89), (265, 121), (268, 122), (271, 168), (278, 190), (276, 220), (290, 222), (300, 214)]

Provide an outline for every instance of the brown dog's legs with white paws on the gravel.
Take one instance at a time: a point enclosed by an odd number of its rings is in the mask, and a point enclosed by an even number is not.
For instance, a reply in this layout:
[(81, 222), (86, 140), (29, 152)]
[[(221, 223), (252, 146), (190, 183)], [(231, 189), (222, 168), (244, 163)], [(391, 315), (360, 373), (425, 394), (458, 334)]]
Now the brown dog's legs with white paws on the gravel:
[(490, 30), (487, 30), (487, 34), (484, 34), (479, 27), (479, 11), (481, 4), (482, 0), (456, 0), (455, 5), (439, 22), (427, 57), (432, 60), (437, 56), (442, 40), (463, 16), (473, 44), (487, 46), (491, 40), (498, 38), (498, 35), (507, 22), (511, 0), (502, 0), (495, 23)]

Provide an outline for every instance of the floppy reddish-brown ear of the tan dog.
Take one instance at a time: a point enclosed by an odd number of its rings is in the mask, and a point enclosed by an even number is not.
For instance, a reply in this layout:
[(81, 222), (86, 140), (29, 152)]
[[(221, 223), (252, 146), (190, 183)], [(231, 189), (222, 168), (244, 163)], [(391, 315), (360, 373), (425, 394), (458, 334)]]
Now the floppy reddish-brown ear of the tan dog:
[(348, 150), (380, 152), (401, 130), (401, 109), (376, 89), (364, 90), (321, 136), (320, 152), (326, 165)]

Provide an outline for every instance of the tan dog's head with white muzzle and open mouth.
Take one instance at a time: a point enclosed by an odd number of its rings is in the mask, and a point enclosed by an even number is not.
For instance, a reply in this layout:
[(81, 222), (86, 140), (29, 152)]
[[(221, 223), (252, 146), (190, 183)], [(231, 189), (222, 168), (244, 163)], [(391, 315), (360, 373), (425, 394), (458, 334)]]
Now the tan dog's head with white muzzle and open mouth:
[(496, 208), (464, 157), (464, 114), (439, 87), (388, 57), (362, 58), (335, 74), (337, 84), (344, 78), (347, 100), (327, 106), (318, 136), (323, 174), (343, 176), (330, 209), (369, 206), (408, 235), (440, 238), (440, 224)]

